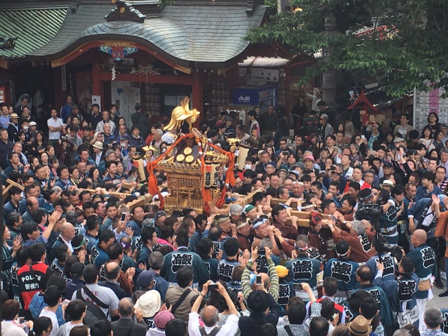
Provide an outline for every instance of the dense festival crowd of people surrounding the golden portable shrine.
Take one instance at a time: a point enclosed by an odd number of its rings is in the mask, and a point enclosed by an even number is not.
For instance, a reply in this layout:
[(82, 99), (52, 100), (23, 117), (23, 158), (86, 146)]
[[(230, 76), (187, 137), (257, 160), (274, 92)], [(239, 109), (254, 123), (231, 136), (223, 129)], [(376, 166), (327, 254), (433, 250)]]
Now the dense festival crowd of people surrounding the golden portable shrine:
[(437, 114), (420, 134), (406, 113), (357, 130), (315, 96), (292, 125), (273, 106), (222, 112), (200, 131), (249, 147), (220, 168), (226, 205), (167, 214), (157, 197), (131, 204), (148, 190), (134, 159), (178, 136), (169, 116), (136, 104), (130, 125), (70, 96), (46, 125), (26, 97), (0, 111), (1, 336), (447, 335), (448, 309), (427, 307), (448, 270)]

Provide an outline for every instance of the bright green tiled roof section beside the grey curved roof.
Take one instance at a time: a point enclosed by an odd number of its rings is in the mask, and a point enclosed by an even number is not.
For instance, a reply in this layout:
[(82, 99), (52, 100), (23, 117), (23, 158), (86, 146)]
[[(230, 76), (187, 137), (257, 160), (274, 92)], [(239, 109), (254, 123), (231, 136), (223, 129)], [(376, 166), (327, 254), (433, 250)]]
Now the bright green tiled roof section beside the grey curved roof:
[(43, 47), (56, 35), (66, 13), (66, 6), (36, 9), (0, 7), (0, 37), (18, 37), (13, 48), (0, 49), (0, 57), (20, 58)]

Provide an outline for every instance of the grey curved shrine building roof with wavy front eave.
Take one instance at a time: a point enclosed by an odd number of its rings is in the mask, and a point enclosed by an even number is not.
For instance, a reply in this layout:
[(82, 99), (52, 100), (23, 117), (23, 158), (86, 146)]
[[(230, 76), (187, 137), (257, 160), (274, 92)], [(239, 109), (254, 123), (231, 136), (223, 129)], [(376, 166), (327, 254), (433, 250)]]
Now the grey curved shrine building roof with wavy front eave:
[[(261, 24), (266, 12), (266, 6), (251, 0), (176, 0), (159, 10), (158, 15), (145, 16), (140, 8), (145, 8), (147, 2), (118, 0), (115, 5), (110, 1), (78, 0), (76, 8), (72, 5), (67, 11), (51, 41), (28, 55), (36, 60), (53, 61), (88, 42), (125, 40), (147, 45), (183, 66), (194, 68), (211, 63), (225, 66), (225, 62), (246, 49), (249, 42), (244, 37), (250, 28)], [(118, 5), (122, 3), (131, 9), (134, 19), (132, 16), (108, 19), (112, 14), (119, 16)]]

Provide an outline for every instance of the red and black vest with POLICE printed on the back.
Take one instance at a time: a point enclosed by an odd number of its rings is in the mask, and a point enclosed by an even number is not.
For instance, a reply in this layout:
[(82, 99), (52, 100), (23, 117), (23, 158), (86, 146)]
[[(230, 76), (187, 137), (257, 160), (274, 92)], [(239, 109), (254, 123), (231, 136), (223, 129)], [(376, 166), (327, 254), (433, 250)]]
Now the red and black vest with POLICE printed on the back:
[(53, 270), (43, 262), (24, 265), (17, 271), (20, 287), (20, 302), (24, 310), (29, 310), (29, 303), (37, 292), (43, 292)]

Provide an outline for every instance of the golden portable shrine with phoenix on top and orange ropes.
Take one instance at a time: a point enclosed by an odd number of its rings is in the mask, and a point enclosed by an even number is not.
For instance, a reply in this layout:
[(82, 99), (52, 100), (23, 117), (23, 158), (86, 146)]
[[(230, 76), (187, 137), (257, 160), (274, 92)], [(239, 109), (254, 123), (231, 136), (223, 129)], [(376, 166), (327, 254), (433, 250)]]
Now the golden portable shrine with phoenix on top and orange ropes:
[[(227, 187), (234, 185), (233, 167), (236, 147), (232, 146), (227, 152), (212, 144), (198, 129), (192, 128), (192, 123), (199, 115), (199, 111), (190, 111), (189, 98), (185, 97), (181, 107), (173, 110), (170, 123), (165, 129), (180, 128), (183, 121), (190, 125), (189, 134), (180, 134), (173, 145), (156, 160), (149, 162), (148, 186), (149, 192), (158, 194), (160, 207), (164, 207), (167, 214), (175, 210), (195, 209), (206, 213), (212, 207), (221, 207)], [(224, 186), (220, 183), (220, 169), (227, 167), (228, 173)], [(160, 195), (155, 179), (154, 170), (167, 175), (168, 190), (164, 199)]]

